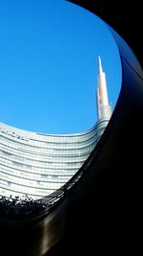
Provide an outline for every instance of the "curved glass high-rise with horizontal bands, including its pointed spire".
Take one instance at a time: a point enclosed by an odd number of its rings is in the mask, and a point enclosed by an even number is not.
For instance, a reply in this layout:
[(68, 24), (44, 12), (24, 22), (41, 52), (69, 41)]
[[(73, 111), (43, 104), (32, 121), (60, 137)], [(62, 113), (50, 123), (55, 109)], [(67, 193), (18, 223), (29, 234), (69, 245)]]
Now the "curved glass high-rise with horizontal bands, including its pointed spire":
[(74, 175), (94, 149), (112, 115), (99, 57), (97, 123), (76, 134), (43, 134), (0, 123), (0, 196), (38, 199)]

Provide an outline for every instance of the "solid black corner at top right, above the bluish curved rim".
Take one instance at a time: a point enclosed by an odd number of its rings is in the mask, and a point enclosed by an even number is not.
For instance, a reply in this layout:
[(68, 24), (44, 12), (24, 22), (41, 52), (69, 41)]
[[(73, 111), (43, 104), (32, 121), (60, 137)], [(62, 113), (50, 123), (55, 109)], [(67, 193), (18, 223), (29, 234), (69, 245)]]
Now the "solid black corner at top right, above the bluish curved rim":
[(112, 0), (69, 1), (88, 9), (106, 21), (133, 49), (143, 66), (142, 2)]

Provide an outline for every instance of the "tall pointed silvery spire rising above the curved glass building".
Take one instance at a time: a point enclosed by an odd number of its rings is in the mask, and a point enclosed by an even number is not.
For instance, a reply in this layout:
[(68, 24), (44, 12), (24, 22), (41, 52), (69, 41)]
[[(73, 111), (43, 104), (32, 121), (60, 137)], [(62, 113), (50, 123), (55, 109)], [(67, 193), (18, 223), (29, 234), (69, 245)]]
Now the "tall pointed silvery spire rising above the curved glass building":
[(97, 102), (97, 114), (98, 114), (98, 120), (99, 120), (101, 118), (106, 118), (106, 115), (109, 116), (109, 111), (110, 111), (109, 107), (111, 107), (111, 105), (109, 105), (106, 75), (105, 75), (105, 72), (103, 71), (100, 56), (98, 57), (97, 83), (98, 83), (98, 86), (97, 86), (97, 92), (96, 92), (96, 102)]

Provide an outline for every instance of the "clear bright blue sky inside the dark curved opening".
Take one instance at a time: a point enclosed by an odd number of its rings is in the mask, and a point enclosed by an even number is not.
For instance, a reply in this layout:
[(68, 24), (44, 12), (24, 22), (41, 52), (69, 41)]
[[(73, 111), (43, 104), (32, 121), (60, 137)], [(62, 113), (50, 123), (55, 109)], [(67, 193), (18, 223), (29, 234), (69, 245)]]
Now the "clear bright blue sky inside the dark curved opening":
[(92, 128), (99, 55), (114, 106), (120, 60), (98, 17), (66, 0), (1, 0), (0, 122), (44, 133)]

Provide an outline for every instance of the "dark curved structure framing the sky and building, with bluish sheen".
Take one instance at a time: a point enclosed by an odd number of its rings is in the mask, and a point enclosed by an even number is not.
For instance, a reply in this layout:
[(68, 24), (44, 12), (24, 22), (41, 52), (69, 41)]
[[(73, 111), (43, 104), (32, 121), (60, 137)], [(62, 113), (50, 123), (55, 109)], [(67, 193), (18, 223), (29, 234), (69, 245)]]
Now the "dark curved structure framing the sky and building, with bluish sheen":
[[(109, 8), (112, 1), (74, 2), (97, 13), (121, 35), (126, 35), (123, 27), (129, 24), (132, 16), (128, 16), (127, 23), (119, 19), (123, 1), (117, 3), (118, 7), (112, 13)], [(105, 2), (108, 2), (108, 7)], [(136, 8), (139, 8), (137, 1)], [(131, 21), (128, 27), (130, 36), (125, 38), (131, 42), (133, 50), (137, 49), (134, 53), (141, 59), (132, 36), (137, 22), (138, 19), (132, 27)], [(122, 64), (122, 88), (112, 119), (79, 170), (83, 175), (71, 189), (64, 191), (63, 197), (50, 210), (29, 220), (0, 219), (2, 255), (100, 255), (103, 252), (112, 255), (132, 252), (136, 255), (140, 250), (143, 76), (131, 49), (110, 29)]]

